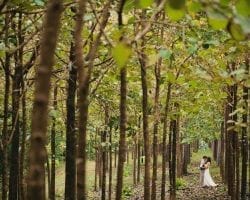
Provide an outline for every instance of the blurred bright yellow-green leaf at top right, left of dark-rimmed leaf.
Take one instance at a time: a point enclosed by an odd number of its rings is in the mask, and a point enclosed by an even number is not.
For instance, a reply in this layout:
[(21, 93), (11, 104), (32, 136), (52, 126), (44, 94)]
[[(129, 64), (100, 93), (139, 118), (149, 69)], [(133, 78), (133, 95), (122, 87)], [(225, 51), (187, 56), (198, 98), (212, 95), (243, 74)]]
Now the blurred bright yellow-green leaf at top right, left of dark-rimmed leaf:
[(215, 29), (215, 30), (219, 30), (219, 29), (225, 29), (227, 24), (228, 24), (228, 19), (215, 11), (208, 11), (208, 23), (209, 25)]

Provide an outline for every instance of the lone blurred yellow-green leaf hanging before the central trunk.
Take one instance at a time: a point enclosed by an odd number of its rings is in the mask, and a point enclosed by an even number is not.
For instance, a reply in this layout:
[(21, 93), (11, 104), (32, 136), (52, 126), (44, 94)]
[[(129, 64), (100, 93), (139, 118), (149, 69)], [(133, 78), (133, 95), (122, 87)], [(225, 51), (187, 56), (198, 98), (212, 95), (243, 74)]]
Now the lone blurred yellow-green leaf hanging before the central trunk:
[(118, 43), (112, 49), (112, 56), (119, 67), (123, 67), (129, 59), (131, 48), (124, 43)]

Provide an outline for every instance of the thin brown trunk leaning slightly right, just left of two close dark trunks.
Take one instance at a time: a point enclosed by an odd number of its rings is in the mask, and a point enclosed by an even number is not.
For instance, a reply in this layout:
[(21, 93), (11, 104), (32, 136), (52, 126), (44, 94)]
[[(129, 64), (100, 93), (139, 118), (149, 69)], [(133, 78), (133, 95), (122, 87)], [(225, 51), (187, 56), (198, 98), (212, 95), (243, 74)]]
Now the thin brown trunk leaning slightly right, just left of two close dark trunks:
[[(162, 178), (161, 178), (161, 200), (165, 200), (166, 193), (166, 164), (167, 164), (167, 125), (169, 102), (171, 98), (171, 84), (168, 83), (167, 97), (164, 110), (163, 137), (162, 137)], [(169, 151), (170, 152), (170, 151)]]

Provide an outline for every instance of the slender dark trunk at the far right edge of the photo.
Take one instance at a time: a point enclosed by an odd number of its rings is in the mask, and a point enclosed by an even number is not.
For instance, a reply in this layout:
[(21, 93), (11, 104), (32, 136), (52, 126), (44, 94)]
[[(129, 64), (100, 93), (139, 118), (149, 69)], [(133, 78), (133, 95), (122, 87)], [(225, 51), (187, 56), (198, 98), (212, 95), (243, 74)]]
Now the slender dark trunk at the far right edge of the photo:
[[(246, 72), (245, 74), (249, 74), (249, 61), (250, 59), (246, 59)], [(243, 86), (243, 109), (245, 110), (245, 113), (242, 116), (242, 123), (246, 124), (246, 126), (242, 127), (241, 132), (241, 155), (242, 155), (242, 166), (241, 166), (241, 200), (247, 199), (246, 193), (247, 193), (247, 159), (248, 159), (248, 135), (247, 135), (247, 123), (248, 123), (248, 96), (249, 96), (249, 88), (244, 85)]]

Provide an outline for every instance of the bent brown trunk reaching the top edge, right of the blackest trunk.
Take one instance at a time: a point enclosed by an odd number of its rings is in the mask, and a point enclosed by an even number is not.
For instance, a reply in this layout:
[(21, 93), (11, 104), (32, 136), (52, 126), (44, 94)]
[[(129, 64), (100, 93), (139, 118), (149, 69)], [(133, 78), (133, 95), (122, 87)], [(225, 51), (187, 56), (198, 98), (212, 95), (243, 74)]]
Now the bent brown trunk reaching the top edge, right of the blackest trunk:
[(86, 197), (86, 125), (88, 117), (88, 71), (84, 68), (82, 30), (86, 1), (78, 1), (78, 12), (74, 32), (75, 65), (78, 70), (79, 119), (78, 119), (78, 152), (77, 152), (77, 199)]

